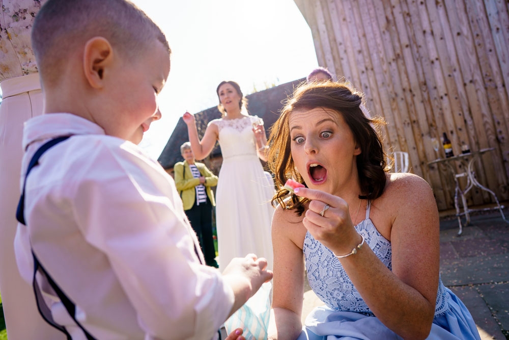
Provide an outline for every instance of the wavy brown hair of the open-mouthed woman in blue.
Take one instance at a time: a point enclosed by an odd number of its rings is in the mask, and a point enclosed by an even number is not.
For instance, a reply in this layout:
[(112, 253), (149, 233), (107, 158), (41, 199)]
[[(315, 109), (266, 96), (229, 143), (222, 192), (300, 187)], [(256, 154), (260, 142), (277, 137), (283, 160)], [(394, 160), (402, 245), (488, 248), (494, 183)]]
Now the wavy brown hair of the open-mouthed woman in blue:
[(359, 197), (373, 200), (382, 195), (386, 182), (385, 172), (388, 170), (380, 137), (380, 127), (385, 125), (385, 120), (379, 116), (366, 117), (360, 109), (361, 103), (360, 93), (346, 83), (337, 82), (302, 83), (293, 95), (287, 98), (269, 137), (268, 166), (275, 174), (278, 188), (272, 202), (277, 201), (287, 209), (296, 209), (298, 215), (304, 212), (307, 199), (292, 194), (290, 199), (286, 200), (290, 192), (282, 188), (288, 178), (304, 184), (302, 176), (294, 167), (290, 151), (289, 117), (294, 110), (315, 108), (331, 109), (341, 115), (361, 148), (361, 153), (356, 157), (361, 189)]

